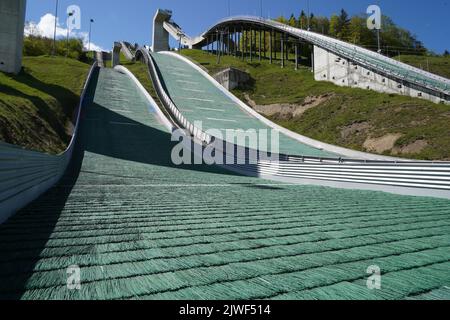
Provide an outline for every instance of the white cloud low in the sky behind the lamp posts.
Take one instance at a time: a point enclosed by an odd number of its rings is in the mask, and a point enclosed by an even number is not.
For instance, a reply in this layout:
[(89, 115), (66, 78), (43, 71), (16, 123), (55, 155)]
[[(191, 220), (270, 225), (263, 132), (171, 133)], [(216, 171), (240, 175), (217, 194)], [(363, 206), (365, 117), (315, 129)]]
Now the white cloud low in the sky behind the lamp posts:
[[(36, 23), (34, 21), (27, 22), (25, 24), (24, 34), (25, 36), (39, 35), (46, 38), (53, 38), (54, 31), (55, 31), (55, 16), (52, 15), (51, 13), (47, 13), (41, 17), (39, 23)], [(88, 49), (89, 46), (88, 32), (71, 30), (70, 36), (82, 39), (84, 48), (86, 50)], [(56, 37), (57, 38), (67, 37), (67, 28), (61, 26), (59, 18), (57, 19), (56, 22)], [(91, 50), (107, 51), (93, 42), (91, 42)]]

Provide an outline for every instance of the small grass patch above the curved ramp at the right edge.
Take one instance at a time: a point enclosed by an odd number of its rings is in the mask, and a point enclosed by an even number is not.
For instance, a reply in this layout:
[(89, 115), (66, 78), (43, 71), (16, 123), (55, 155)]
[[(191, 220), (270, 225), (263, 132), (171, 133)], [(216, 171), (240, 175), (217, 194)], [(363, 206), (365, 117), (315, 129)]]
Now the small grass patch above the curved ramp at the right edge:
[(400, 55), (394, 59), (410, 64), (414, 67), (430, 71), (440, 76), (450, 78), (450, 56), (413, 56)]

